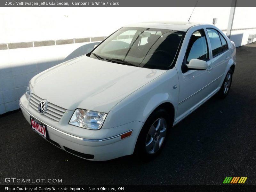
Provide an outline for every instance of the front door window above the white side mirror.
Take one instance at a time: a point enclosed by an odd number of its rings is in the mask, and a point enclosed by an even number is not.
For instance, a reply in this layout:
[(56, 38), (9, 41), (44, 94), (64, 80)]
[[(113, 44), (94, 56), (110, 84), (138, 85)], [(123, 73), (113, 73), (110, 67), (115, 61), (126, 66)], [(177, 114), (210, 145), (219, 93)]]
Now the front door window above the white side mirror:
[(188, 49), (186, 52), (187, 63), (191, 59), (208, 60), (208, 47), (206, 43), (204, 30), (201, 29), (193, 33), (189, 40)]

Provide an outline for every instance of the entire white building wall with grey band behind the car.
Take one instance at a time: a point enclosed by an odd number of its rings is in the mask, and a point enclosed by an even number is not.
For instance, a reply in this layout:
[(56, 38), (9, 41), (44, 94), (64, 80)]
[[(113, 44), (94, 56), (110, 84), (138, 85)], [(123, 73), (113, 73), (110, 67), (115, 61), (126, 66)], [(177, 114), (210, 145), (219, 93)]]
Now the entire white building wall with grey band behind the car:
[[(188, 20), (193, 9), (1, 7), (0, 114), (19, 108), (18, 101), (31, 77), (65, 60), (85, 54), (94, 44), (98, 44), (96, 41), (101, 41), (118, 28), (150, 20)], [(211, 24), (213, 18), (218, 18), (216, 26), (225, 33), (229, 12), (229, 7), (196, 7), (190, 21)], [(247, 44), (248, 36), (256, 34), (255, 15), (256, 8), (236, 8), (233, 22), (235, 30), (231, 32), (231, 40), (236, 46)], [(16, 44), (21, 42), (27, 43)], [(41, 46), (49, 44), (52, 45)]]

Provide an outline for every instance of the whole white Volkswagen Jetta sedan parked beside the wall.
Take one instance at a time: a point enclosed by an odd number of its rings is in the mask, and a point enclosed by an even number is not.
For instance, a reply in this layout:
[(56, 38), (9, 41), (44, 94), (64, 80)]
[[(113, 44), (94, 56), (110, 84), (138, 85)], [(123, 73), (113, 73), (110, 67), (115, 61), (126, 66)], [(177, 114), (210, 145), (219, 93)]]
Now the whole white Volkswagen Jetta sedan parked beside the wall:
[(235, 64), (234, 43), (215, 26), (133, 24), (34, 76), (20, 108), (34, 131), (76, 156), (148, 160), (173, 125), (227, 96)]

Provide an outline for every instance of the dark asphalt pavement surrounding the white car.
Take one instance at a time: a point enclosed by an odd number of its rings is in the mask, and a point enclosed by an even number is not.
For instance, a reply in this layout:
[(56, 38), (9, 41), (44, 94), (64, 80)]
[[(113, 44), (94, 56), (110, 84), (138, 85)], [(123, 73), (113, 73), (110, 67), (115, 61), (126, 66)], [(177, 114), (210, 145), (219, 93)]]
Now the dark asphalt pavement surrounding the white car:
[(33, 132), (20, 111), (0, 117), (0, 185), (6, 177), (63, 185), (220, 185), (228, 176), (255, 185), (255, 56), (256, 44), (237, 48), (228, 97), (208, 100), (173, 127), (163, 153), (145, 164), (130, 156), (86, 161)]

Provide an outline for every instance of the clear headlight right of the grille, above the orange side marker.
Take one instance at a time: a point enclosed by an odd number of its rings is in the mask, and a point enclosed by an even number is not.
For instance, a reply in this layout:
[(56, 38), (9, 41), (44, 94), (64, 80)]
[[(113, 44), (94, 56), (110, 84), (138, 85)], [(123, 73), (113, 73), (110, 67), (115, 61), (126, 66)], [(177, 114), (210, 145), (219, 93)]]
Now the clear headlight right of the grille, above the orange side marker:
[(101, 128), (106, 116), (107, 113), (76, 109), (69, 124), (86, 129), (97, 130)]

